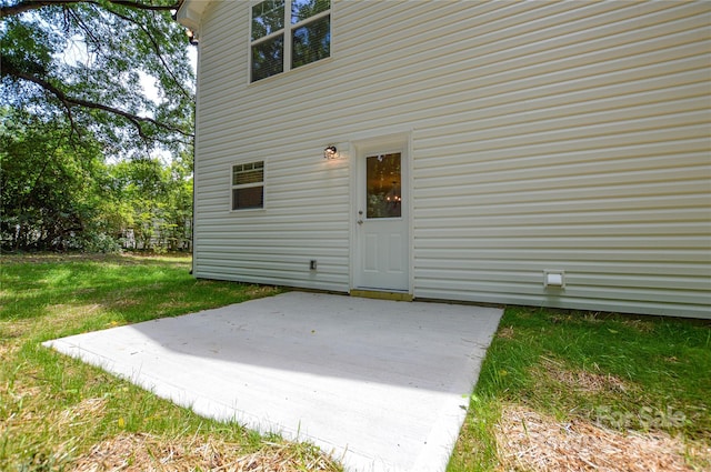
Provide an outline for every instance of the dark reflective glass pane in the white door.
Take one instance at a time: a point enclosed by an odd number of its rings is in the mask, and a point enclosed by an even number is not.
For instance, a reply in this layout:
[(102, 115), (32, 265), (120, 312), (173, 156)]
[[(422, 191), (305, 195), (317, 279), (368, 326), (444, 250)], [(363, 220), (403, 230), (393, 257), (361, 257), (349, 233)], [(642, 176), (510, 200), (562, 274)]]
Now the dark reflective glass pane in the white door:
[(365, 197), (368, 218), (400, 218), (402, 180), (400, 153), (365, 158)]

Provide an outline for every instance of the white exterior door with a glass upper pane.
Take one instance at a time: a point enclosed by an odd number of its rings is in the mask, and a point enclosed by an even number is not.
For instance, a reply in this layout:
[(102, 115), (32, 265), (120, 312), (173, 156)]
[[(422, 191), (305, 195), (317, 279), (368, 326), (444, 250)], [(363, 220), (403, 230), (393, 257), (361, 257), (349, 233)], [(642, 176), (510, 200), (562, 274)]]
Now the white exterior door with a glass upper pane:
[(410, 288), (407, 154), (403, 149), (358, 153), (356, 289)]

